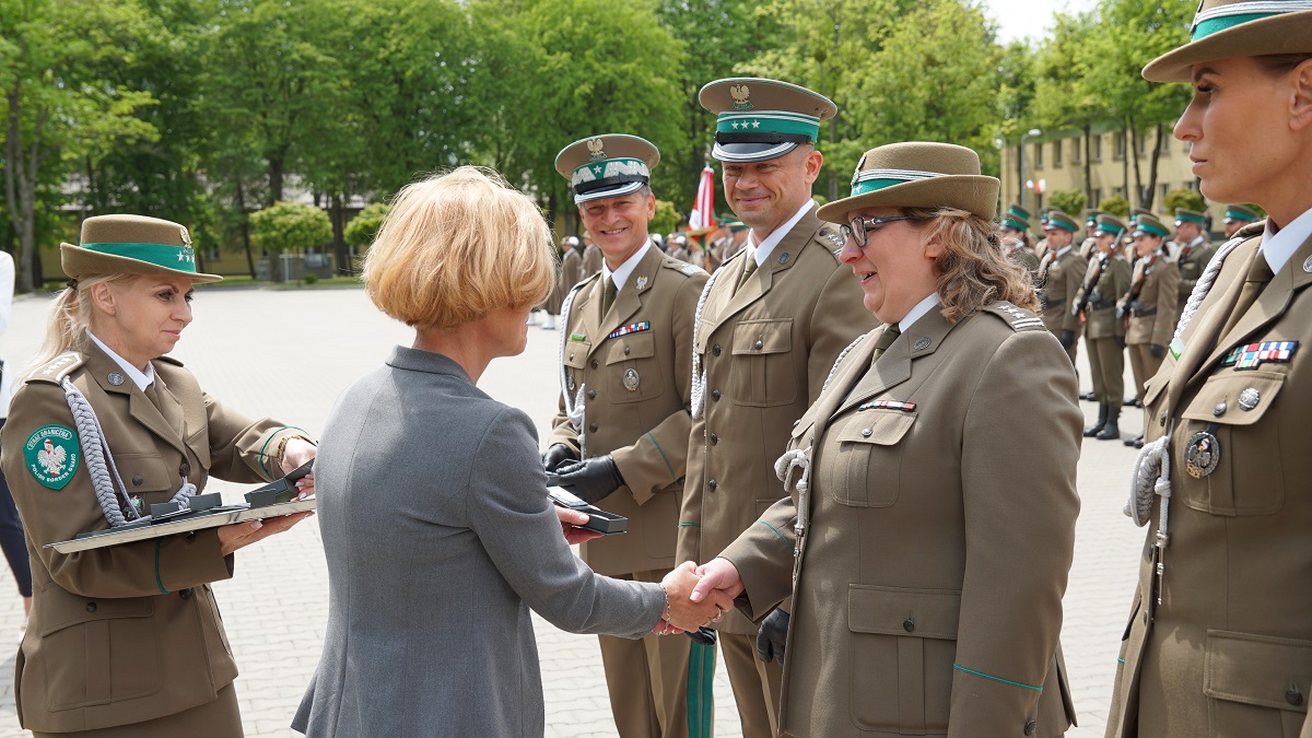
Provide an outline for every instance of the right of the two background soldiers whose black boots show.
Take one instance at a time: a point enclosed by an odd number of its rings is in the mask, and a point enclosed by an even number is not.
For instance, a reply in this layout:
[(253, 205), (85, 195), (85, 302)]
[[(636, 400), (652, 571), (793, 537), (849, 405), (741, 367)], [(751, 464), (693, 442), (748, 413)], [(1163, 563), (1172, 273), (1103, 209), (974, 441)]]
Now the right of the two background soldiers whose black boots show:
[[(1117, 305), (1117, 313), (1128, 320), (1126, 349), (1135, 376), (1135, 398), (1144, 399), (1144, 385), (1157, 373), (1166, 356), (1166, 344), (1176, 332), (1176, 295), (1179, 265), (1166, 257), (1162, 242), (1166, 226), (1152, 215), (1135, 219), (1135, 260), (1130, 278), (1130, 292)], [(1147, 427), (1147, 424), (1145, 424)], [(1143, 448), (1139, 435), (1126, 441), (1127, 446)]]

